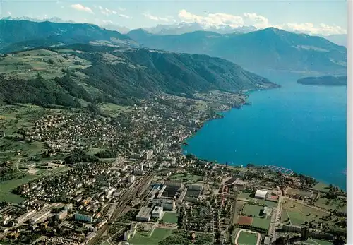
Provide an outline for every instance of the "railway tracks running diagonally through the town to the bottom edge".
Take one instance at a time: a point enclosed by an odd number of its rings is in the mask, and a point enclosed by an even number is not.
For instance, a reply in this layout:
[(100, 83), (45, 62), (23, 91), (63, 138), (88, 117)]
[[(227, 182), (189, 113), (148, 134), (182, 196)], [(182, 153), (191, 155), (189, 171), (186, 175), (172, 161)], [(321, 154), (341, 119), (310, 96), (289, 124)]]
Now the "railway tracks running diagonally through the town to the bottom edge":
[(102, 234), (104, 234), (104, 232), (107, 231), (107, 229), (109, 228), (109, 222), (116, 220), (116, 218), (119, 217), (119, 215), (123, 214), (124, 210), (128, 208), (128, 204), (134, 198), (138, 198), (143, 193), (146, 185), (148, 184), (148, 181), (152, 178), (152, 176), (150, 175), (151, 172), (152, 169), (148, 170), (148, 172), (141, 179), (139, 179), (136, 184), (131, 185), (130, 188), (123, 194), (123, 196), (119, 198), (119, 201), (121, 201), (121, 205), (119, 206), (119, 208), (116, 208), (112, 215), (112, 218), (108, 220), (107, 224), (103, 225), (103, 227), (97, 231), (97, 235), (93, 237), (93, 239), (88, 244), (97, 244), (97, 241), (100, 239)]

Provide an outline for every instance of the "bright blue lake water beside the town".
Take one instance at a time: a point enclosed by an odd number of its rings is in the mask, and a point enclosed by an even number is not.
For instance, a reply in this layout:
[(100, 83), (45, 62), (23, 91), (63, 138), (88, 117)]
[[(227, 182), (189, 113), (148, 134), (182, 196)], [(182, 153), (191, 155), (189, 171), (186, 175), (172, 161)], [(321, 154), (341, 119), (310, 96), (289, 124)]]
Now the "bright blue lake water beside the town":
[(185, 153), (234, 165), (277, 165), (346, 189), (346, 87), (299, 85), (301, 77), (259, 73), (282, 88), (251, 92), (251, 106), (224, 112), (187, 141)]

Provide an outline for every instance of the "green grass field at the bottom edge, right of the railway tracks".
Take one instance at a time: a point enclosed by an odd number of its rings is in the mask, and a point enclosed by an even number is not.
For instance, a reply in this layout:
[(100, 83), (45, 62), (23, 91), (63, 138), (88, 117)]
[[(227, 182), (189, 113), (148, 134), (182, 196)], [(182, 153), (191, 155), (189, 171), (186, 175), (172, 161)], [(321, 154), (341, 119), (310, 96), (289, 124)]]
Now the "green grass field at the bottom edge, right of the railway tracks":
[(155, 228), (150, 237), (148, 237), (149, 233), (143, 234), (143, 232), (137, 232), (133, 238), (128, 240), (128, 243), (131, 245), (155, 245), (169, 237), (172, 231), (173, 229)]

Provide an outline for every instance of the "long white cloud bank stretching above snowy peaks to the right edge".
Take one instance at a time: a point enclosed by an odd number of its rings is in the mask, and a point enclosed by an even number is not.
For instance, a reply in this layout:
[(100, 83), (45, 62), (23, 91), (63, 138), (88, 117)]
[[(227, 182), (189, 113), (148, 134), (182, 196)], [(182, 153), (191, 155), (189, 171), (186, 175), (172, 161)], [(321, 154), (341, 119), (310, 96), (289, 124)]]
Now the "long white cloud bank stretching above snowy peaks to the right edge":
[(327, 25), (324, 23), (321, 23), (320, 25), (314, 25), (313, 23), (283, 23), (280, 25), (273, 25), (268, 18), (258, 15), (257, 13), (243, 13), (241, 16), (234, 16), (229, 13), (208, 13), (201, 16), (182, 9), (179, 11), (178, 17), (181, 21), (186, 23), (199, 23), (205, 27), (229, 25), (232, 28), (238, 28), (244, 25), (253, 25), (258, 29), (274, 27), (290, 32), (301, 32), (310, 35), (347, 33), (347, 30), (338, 25)]

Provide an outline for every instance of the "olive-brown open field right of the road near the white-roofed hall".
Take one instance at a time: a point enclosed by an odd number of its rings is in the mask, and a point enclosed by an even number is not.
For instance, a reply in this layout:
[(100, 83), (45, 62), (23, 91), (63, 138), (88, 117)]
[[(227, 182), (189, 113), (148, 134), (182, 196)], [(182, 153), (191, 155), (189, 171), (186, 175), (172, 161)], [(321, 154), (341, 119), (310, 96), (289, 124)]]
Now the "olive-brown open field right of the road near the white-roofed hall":
[(326, 215), (326, 213), (323, 213), (321, 210), (316, 210), (315, 208), (310, 208), (301, 203), (286, 200), (282, 205), (281, 221), (285, 222), (289, 217), (292, 225), (302, 225), (304, 222), (309, 222), (311, 220), (320, 221), (320, 218), (323, 217), (323, 215)]

